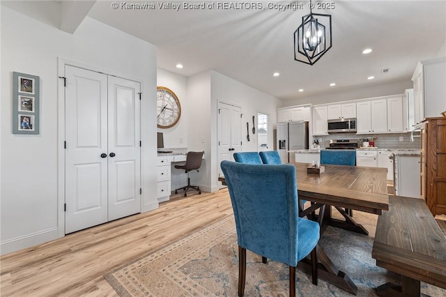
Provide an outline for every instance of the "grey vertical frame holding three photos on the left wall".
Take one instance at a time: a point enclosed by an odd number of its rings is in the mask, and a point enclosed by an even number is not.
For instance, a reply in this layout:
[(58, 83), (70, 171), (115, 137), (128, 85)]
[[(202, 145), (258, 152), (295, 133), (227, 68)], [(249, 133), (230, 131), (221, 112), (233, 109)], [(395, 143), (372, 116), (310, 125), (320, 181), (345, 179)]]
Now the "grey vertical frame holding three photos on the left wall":
[(40, 78), (13, 72), (13, 134), (40, 133)]

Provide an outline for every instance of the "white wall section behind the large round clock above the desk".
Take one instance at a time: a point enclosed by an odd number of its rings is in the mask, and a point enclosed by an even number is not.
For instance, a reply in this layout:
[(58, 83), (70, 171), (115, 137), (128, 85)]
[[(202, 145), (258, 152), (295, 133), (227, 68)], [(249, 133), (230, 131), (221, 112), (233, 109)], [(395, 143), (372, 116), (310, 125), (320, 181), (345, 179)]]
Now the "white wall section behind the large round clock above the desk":
[(171, 73), (167, 70), (157, 68), (157, 86), (165, 86), (176, 94), (181, 105), (180, 121), (168, 129), (158, 128), (158, 132), (164, 134), (164, 147), (187, 148), (187, 119), (189, 119), (190, 104), (187, 100), (187, 78), (182, 75)]

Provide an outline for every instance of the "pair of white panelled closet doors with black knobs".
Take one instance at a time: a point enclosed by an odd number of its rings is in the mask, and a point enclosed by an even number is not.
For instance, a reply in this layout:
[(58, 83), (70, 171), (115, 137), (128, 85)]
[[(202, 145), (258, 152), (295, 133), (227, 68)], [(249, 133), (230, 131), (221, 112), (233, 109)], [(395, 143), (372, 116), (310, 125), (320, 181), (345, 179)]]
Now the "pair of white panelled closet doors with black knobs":
[(141, 212), (141, 85), (65, 66), (65, 233)]

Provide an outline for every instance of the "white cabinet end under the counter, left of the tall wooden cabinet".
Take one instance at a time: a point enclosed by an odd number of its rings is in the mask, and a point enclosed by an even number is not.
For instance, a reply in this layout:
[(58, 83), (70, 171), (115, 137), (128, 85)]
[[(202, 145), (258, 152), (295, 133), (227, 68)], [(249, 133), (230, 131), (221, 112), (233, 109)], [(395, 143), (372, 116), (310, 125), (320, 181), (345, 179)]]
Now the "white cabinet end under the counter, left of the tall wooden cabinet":
[(394, 155), (395, 195), (421, 198), (420, 155)]

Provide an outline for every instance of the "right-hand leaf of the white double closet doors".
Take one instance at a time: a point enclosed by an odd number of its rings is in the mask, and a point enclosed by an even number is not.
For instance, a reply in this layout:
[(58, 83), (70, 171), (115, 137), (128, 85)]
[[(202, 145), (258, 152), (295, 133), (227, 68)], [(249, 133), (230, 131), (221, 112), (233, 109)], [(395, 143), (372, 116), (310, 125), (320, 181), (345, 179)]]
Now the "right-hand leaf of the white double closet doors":
[(109, 220), (141, 211), (139, 82), (109, 77)]

